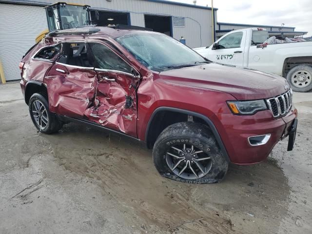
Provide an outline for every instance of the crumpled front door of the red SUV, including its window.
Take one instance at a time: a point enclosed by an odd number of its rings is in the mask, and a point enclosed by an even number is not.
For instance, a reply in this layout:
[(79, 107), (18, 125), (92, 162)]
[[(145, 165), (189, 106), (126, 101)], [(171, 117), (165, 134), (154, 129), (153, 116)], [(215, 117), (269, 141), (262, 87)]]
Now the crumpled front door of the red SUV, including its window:
[(104, 127), (137, 137), (137, 84), (134, 68), (106, 42), (88, 42), (98, 81), (85, 116)]

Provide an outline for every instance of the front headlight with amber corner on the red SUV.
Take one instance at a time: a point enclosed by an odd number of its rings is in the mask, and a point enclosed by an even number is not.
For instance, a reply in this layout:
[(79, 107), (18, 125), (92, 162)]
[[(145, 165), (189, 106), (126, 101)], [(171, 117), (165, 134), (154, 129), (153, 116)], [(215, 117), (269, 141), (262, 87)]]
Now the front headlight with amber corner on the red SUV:
[(268, 109), (264, 100), (227, 101), (227, 103), (235, 115), (254, 115), (258, 111)]

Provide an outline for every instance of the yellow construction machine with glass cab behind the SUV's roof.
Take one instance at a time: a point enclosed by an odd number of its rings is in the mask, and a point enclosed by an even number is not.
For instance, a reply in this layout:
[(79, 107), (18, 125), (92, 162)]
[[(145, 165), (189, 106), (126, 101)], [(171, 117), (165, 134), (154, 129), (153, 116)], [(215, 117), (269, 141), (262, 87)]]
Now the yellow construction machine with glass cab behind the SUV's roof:
[(43, 30), (36, 37), (36, 43), (51, 31), (83, 27), (91, 24), (89, 5), (57, 2), (46, 6), (45, 12), (49, 29)]

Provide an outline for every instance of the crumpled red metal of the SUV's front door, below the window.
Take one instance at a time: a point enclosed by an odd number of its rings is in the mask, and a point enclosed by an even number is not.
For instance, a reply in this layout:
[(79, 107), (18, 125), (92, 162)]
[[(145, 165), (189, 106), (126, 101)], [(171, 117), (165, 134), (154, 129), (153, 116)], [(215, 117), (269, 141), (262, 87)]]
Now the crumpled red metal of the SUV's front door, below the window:
[[(93, 106), (84, 115), (104, 127), (137, 137), (137, 97), (131, 81), (124, 74), (98, 71)], [(131, 100), (129, 106), (127, 98)]]

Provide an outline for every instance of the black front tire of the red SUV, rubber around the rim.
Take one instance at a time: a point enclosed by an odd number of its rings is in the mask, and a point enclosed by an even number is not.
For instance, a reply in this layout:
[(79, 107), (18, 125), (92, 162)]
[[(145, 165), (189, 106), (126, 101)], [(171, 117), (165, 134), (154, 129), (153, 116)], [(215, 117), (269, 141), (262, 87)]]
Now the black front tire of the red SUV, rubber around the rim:
[[(211, 169), (207, 175), (195, 179), (181, 178), (169, 168), (166, 161), (167, 152), (171, 150), (172, 146), (184, 144), (184, 142), (194, 145), (195, 148), (203, 151), (202, 154), (211, 157)], [(229, 165), (210, 129), (204, 124), (194, 122), (179, 122), (164, 129), (154, 144), (153, 161), (161, 176), (185, 183), (221, 182)]]

